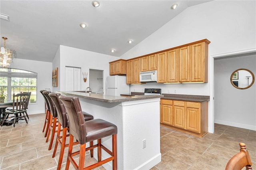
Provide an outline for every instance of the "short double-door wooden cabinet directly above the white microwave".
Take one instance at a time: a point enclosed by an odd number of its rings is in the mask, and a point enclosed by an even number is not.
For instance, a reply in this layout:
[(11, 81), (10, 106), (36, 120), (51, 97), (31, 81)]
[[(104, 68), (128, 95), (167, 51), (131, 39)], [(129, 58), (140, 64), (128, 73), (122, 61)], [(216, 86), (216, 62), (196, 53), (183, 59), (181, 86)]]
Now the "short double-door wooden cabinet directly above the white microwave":
[(156, 54), (140, 57), (140, 71), (156, 70)]

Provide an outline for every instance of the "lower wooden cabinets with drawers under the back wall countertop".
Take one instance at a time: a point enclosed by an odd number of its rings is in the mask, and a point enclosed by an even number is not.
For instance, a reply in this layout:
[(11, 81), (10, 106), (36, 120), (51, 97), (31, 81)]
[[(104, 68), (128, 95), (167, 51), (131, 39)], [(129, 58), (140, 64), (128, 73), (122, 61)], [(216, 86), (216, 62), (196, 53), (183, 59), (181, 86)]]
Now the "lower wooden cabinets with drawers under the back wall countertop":
[(160, 105), (161, 124), (196, 136), (208, 132), (208, 101), (161, 99)]

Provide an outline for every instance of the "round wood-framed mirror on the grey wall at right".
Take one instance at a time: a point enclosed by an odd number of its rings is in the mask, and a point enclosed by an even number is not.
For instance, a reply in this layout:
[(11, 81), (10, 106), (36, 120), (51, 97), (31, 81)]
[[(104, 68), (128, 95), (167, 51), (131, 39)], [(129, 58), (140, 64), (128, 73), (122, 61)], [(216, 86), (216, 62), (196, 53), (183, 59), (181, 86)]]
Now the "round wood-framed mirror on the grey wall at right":
[(254, 75), (248, 69), (237, 69), (231, 74), (230, 82), (237, 89), (248, 89), (254, 83)]

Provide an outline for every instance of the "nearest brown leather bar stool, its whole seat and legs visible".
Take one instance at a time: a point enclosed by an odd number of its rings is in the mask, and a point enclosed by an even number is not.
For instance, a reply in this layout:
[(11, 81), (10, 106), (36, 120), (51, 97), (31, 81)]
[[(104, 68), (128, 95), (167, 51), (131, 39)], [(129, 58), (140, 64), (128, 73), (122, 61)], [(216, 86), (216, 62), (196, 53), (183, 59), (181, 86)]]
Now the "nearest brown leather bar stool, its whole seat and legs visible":
[[(69, 168), (70, 162), (74, 168), (78, 170), (93, 169), (106, 162), (112, 161), (113, 170), (117, 170), (117, 148), (116, 148), (116, 125), (104, 121), (102, 119), (94, 119), (90, 121), (84, 121), (82, 116), (82, 109), (78, 97), (73, 96), (60, 96), (60, 101), (64, 104), (68, 119), (69, 119), (69, 133), (70, 141), (68, 148), (68, 159), (66, 162), (66, 170)], [(112, 136), (112, 151), (108, 150), (101, 143), (101, 138), (106, 136)], [(80, 151), (72, 153), (73, 140), (76, 138), (80, 143)], [(86, 142), (97, 140), (97, 144), (86, 148)], [(87, 150), (98, 148), (98, 162), (84, 168), (84, 157)], [(101, 160), (101, 149), (110, 154), (109, 158)], [(78, 165), (74, 161), (73, 156), (79, 155)]]

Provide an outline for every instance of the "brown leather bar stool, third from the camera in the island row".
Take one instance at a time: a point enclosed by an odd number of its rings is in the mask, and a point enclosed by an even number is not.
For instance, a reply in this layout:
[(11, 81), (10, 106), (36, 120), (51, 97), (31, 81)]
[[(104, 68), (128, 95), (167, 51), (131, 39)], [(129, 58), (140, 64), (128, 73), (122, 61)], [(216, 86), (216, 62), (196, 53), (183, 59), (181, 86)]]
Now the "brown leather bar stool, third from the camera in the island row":
[(50, 137), (50, 133), (52, 132), (51, 139), (50, 139), (50, 144), (49, 144), (49, 148), (48, 148), (48, 150), (51, 150), (53, 139), (54, 139), (54, 134), (57, 133), (56, 127), (58, 127), (58, 115), (57, 115), (55, 105), (52, 102), (52, 99), (49, 97), (49, 93), (51, 93), (51, 92), (50, 91), (44, 91), (43, 92), (43, 94), (46, 97), (46, 99), (49, 103), (49, 106), (50, 106), (50, 118), (48, 119), (49, 127), (48, 127), (48, 134), (47, 134), (46, 142), (48, 142), (48, 139)]

